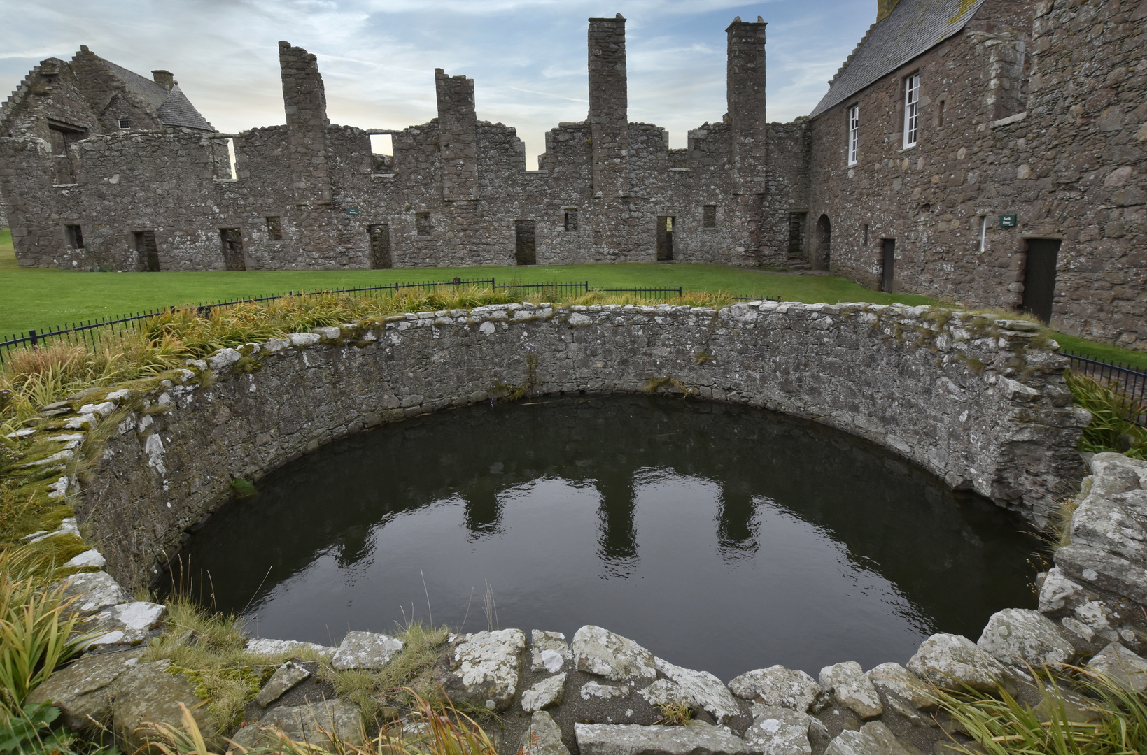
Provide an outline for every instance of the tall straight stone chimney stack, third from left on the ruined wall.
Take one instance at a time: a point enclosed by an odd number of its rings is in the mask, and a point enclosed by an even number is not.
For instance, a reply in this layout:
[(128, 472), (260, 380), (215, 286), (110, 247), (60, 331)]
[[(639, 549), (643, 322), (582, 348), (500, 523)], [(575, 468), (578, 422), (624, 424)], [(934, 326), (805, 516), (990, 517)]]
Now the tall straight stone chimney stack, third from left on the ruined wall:
[(590, 19), (590, 131), (595, 197), (630, 194), (625, 18)]

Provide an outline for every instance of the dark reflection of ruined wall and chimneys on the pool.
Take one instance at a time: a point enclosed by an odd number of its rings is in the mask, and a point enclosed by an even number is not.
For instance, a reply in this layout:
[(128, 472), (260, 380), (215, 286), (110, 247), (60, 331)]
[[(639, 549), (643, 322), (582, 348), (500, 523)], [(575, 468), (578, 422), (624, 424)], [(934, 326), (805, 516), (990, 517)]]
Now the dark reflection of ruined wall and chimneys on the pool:
[[(757, 550), (758, 506), (775, 502), (824, 528), (846, 545), (850, 560), (895, 583), (941, 623), (962, 618), (934, 605), (937, 579), (958, 571), (967, 577), (951, 581), (959, 591), (978, 589), (962, 585), (985, 584), (997, 569), (1015, 572), (1017, 519), (983, 501), (961, 502), (865, 441), (762, 410), (642, 396), (481, 404), (380, 427), (294, 462), (265, 478), (259, 496), (216, 517), (241, 527), (240, 510), (257, 506), (260, 521), (283, 522), (273, 533), (280, 563), (270, 587), (331, 542), (341, 545), (340, 564), (366, 558), (380, 524), (432, 502), (463, 503), (471, 537), (497, 534), (502, 491), (561, 478), (599, 491), (599, 555), (616, 575), (640, 557), (634, 480), (666, 467), (720, 485), (715, 530), (729, 561)], [(313, 505), (299, 506), (301, 500)], [(243, 579), (253, 593), (263, 574)]]

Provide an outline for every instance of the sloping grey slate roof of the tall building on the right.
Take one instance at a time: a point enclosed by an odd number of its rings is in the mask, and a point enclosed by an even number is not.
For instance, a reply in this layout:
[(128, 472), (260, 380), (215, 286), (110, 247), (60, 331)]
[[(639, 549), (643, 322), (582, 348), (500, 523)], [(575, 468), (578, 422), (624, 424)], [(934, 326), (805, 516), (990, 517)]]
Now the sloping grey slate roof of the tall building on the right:
[(887, 18), (868, 30), (809, 117), (816, 118), (838, 105), (960, 31), (983, 2), (984, 0), (900, 0)]

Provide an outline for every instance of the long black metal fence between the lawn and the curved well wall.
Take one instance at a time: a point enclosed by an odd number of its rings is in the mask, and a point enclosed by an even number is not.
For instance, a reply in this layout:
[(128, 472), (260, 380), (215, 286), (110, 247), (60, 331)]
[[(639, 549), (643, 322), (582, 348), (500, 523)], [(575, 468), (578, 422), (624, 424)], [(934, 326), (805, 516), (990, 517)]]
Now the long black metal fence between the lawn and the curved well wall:
[[(118, 317), (102, 317), (96, 320), (88, 320), (86, 322), (72, 323), (71, 325), (61, 325), (56, 328), (36, 329), (30, 328), (26, 331), (22, 331), (14, 335), (7, 339), (0, 340), (0, 363), (3, 362), (5, 355), (13, 348), (18, 346), (39, 346), (47, 343), (50, 339), (64, 338), (72, 340), (73, 343), (81, 343), (85, 346), (93, 347), (101, 336), (104, 335), (122, 335), (134, 323), (141, 320), (147, 320), (149, 317), (155, 317), (156, 315), (173, 313), (177, 309), (195, 309), (196, 314), (200, 316), (208, 316), (213, 309), (221, 307), (233, 307), (237, 304), (245, 304), (252, 301), (274, 301), (275, 299), (282, 299), (284, 297), (296, 297), (296, 296), (320, 296), (320, 294), (331, 294), (331, 293), (382, 293), (382, 292), (395, 292), (398, 293), (403, 290), (408, 289), (437, 289), (440, 286), (460, 286), (460, 285), (482, 285), (489, 286), (494, 291), (523, 291), (523, 292), (539, 292), (539, 291), (554, 291), (559, 293), (588, 293), (590, 291), (600, 291), (601, 293), (632, 293), (635, 296), (646, 297), (672, 297), (682, 296), (684, 286), (668, 288), (668, 289), (591, 289), (590, 282), (585, 281), (582, 283), (505, 283), (499, 284), (494, 278), (483, 278), (477, 281), (463, 281), (461, 278), (454, 278), (453, 281), (434, 281), (426, 283), (390, 283), (387, 285), (367, 285), (357, 286), (350, 289), (323, 289), (320, 291), (289, 291), (287, 293), (279, 293), (266, 297), (249, 297), (244, 299), (233, 299), (231, 301), (211, 301), (206, 304), (190, 305), (187, 307), (165, 307), (161, 309), (149, 309), (147, 312), (136, 312), (134, 315), (120, 315)], [(747, 299), (748, 300), (748, 299)]]

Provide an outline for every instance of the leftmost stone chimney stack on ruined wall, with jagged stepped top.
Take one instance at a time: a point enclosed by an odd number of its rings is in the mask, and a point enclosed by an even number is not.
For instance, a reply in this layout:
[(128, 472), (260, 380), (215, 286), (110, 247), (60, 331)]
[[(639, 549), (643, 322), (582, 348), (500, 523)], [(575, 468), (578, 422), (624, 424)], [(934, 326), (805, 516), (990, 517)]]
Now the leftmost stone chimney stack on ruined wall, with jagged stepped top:
[(330, 204), (327, 167), (327, 95), (319, 63), (302, 47), (279, 42), (279, 69), (287, 112), (287, 149), (291, 164), (295, 202)]

